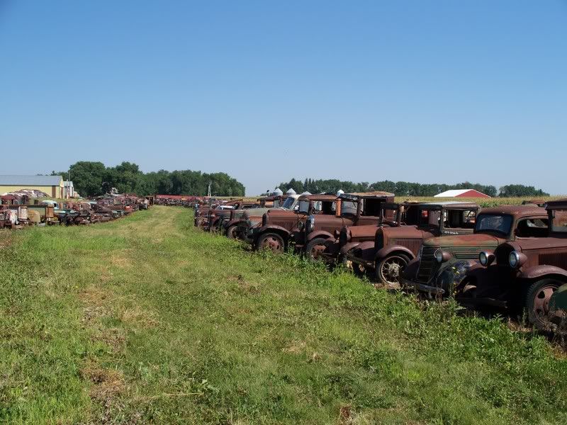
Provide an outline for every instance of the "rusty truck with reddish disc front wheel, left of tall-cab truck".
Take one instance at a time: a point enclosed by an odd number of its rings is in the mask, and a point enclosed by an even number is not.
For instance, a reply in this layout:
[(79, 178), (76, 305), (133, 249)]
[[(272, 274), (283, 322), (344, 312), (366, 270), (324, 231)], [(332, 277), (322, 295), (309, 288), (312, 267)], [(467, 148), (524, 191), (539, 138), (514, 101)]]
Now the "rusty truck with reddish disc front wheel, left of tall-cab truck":
[(280, 253), (290, 244), (301, 250), (305, 237), (303, 229), (306, 220), (324, 215), (340, 217), (341, 198), (332, 194), (301, 195), (297, 210), (268, 210), (262, 217), (262, 225), (255, 227), (252, 234), (254, 249), (271, 249)]

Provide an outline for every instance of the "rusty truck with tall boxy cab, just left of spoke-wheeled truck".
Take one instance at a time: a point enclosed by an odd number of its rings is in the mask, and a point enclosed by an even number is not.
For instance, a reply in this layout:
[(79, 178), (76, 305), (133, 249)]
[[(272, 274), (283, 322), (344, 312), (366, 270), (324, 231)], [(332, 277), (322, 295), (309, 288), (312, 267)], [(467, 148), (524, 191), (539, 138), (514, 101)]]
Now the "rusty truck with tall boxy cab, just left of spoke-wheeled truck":
[(308, 217), (303, 238), (303, 252), (308, 259), (322, 260), (335, 263), (340, 253), (340, 232), (344, 227), (376, 226), (383, 222), (386, 215), (393, 217), (393, 212), (387, 212), (385, 205), (392, 204), (393, 193), (366, 192), (342, 193), (340, 215), (323, 215)]

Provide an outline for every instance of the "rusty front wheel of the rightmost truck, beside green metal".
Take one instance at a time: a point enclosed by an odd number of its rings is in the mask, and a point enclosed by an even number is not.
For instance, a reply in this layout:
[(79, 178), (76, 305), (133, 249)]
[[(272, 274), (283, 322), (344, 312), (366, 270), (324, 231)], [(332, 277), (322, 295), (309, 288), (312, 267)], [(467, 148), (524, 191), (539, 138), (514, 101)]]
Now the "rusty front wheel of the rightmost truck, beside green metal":
[(549, 320), (549, 299), (561, 284), (558, 280), (547, 278), (537, 280), (527, 288), (524, 307), (529, 322), (539, 331), (550, 331), (554, 328)]

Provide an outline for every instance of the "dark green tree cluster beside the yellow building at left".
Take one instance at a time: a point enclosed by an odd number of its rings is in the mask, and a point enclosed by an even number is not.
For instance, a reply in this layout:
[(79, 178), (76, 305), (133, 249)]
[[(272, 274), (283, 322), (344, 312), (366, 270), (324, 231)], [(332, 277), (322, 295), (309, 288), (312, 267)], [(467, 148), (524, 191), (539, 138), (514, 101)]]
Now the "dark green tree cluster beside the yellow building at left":
[(206, 196), (208, 185), (214, 196), (244, 196), (245, 186), (226, 173), (201, 171), (159, 170), (143, 173), (132, 162), (108, 167), (102, 162), (79, 161), (69, 171), (52, 171), (52, 176), (63, 176), (73, 182), (81, 196), (99, 196), (116, 188), (119, 193), (136, 193), (139, 196), (191, 195)]

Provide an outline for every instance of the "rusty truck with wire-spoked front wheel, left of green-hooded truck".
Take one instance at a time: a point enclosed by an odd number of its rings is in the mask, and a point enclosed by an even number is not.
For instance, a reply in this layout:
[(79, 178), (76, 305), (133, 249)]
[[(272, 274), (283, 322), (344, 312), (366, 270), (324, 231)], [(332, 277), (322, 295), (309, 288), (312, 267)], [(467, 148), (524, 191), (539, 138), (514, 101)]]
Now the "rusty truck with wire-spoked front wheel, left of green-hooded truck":
[(374, 240), (349, 249), (347, 261), (357, 274), (372, 273), (379, 283), (398, 285), (405, 266), (415, 259), (423, 242), (444, 234), (471, 234), (476, 203), (420, 203), (407, 208), (400, 225), (376, 229)]

